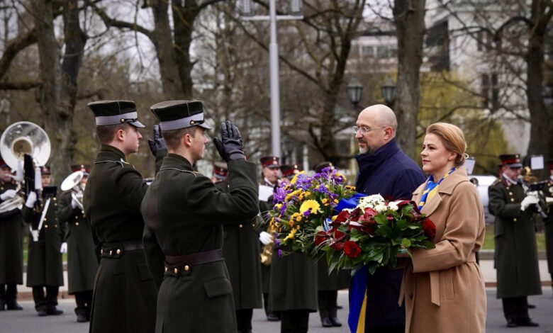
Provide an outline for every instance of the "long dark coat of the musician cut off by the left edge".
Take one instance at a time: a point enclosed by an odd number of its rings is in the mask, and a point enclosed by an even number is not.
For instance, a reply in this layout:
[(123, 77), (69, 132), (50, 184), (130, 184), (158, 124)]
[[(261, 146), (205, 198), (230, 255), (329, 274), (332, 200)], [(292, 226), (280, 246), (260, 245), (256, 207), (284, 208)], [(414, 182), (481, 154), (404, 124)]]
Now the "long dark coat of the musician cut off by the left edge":
[[(0, 181), (0, 194), (15, 189), (13, 183)], [(18, 208), (0, 214), (0, 284), (4, 283), (23, 284), (23, 223)]]

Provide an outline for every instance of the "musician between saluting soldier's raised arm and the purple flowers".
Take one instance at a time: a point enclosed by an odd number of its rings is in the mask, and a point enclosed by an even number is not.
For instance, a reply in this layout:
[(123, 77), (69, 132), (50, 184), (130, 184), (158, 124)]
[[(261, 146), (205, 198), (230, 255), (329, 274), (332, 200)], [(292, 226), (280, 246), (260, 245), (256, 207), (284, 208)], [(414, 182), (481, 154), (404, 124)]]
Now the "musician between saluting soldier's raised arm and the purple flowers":
[[(262, 182), (259, 184), (259, 211), (264, 215), (268, 210), (273, 209), (272, 193), (274, 186), (277, 186), (280, 178), (279, 157), (264, 156), (259, 159), (261, 163)], [(262, 216), (264, 218), (264, 216)], [(265, 315), (269, 322), (278, 322), (280, 316), (278, 312), (269, 311), (269, 293), (271, 290), (271, 260), (273, 248), (273, 235), (267, 231), (259, 232), (259, 242), (261, 249), (261, 278), (263, 288), (263, 307)]]

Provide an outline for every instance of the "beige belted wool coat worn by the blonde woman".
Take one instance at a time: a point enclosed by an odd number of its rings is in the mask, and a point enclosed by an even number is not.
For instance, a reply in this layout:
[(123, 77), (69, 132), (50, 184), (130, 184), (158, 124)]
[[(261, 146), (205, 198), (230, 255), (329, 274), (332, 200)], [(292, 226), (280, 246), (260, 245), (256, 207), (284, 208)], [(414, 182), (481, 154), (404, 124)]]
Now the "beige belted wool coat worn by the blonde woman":
[[(413, 192), (420, 202), (426, 182)], [(406, 303), (406, 333), (486, 330), (486, 289), (475, 262), (484, 242), (484, 213), (476, 188), (460, 166), (422, 209), (436, 225), (435, 249), (413, 249), (399, 303)]]

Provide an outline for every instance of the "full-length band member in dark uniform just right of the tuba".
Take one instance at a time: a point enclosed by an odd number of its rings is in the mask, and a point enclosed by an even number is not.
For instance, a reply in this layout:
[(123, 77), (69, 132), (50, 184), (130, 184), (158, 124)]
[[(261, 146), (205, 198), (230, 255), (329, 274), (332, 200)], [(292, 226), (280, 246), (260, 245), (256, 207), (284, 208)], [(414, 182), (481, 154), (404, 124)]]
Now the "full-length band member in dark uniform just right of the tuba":
[[(40, 168), (43, 190), (31, 191), (23, 207), (23, 221), (30, 225), (27, 261), (27, 286), (33, 288), (35, 309), (39, 316), (61, 315), (57, 309), (57, 293), (63, 286), (60, 248), (67, 235), (57, 218), (55, 186), (50, 186), (50, 168)], [(40, 205), (37, 197), (40, 196)]]

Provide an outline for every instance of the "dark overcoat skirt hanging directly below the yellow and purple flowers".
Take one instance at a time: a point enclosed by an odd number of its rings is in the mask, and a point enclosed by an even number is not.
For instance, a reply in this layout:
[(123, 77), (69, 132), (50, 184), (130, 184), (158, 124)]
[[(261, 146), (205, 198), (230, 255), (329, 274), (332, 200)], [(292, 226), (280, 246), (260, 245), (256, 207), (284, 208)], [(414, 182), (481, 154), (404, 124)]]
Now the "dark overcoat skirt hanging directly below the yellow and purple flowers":
[[(287, 252), (291, 249), (285, 248)], [(273, 249), (269, 310), (317, 311), (317, 265), (303, 254), (279, 256)]]

